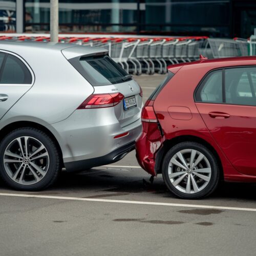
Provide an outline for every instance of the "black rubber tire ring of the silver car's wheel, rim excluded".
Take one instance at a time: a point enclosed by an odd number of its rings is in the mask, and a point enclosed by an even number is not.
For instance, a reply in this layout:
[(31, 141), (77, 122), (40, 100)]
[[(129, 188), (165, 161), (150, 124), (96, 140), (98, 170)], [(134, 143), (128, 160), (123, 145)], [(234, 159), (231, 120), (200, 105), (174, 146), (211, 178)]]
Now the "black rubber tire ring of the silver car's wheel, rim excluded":
[[(49, 154), (49, 167), (46, 176), (40, 180), (36, 184), (32, 185), (22, 185), (14, 182), (6, 173), (5, 166), (4, 166), (4, 153), (6, 147), (9, 145), (11, 141), (15, 138), (23, 137), (23, 136), (30, 136), (37, 140), (39, 140), (44, 146), (46, 147), (48, 154)], [(34, 128), (20, 128), (11, 133), (9, 133), (0, 144), (0, 174), (4, 181), (10, 185), (12, 188), (17, 190), (40, 190), (46, 188), (50, 184), (53, 183), (59, 173), (59, 156), (57, 154), (56, 146), (53, 140), (44, 132), (41, 132)]]

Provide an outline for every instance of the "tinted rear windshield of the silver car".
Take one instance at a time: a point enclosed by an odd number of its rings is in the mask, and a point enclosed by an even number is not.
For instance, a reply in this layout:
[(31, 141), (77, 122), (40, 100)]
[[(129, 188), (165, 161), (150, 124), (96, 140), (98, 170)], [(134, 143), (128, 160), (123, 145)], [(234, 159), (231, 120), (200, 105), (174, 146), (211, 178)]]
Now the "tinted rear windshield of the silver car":
[(79, 64), (73, 66), (86, 78), (92, 86), (105, 86), (132, 79), (108, 55), (80, 57)]

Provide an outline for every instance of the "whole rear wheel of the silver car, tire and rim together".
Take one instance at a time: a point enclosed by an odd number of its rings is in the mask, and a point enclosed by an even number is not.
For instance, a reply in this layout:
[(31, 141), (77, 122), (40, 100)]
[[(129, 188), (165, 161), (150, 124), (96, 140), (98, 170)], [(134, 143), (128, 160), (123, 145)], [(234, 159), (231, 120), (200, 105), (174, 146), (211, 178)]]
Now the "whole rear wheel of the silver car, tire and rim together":
[(1, 141), (0, 176), (16, 190), (45, 189), (60, 173), (60, 156), (46, 133), (32, 127), (19, 128)]

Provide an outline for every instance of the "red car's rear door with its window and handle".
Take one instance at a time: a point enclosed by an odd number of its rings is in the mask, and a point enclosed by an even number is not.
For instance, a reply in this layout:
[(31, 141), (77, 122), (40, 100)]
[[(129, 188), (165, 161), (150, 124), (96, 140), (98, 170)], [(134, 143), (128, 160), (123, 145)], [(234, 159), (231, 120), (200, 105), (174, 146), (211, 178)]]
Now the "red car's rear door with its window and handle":
[(256, 67), (209, 73), (196, 106), (212, 137), (242, 174), (256, 175)]

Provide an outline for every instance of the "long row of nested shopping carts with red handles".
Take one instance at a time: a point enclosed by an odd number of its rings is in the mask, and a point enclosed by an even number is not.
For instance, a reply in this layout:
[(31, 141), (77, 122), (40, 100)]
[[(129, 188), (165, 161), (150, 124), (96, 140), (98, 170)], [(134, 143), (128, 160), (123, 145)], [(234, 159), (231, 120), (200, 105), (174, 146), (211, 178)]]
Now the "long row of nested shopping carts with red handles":
[[(47, 36), (0, 36), (0, 40), (50, 41)], [(61, 43), (101, 47), (128, 73), (164, 74), (168, 65), (208, 58), (247, 56), (246, 39), (220, 39), (206, 36), (164, 38), (59, 37)]]

